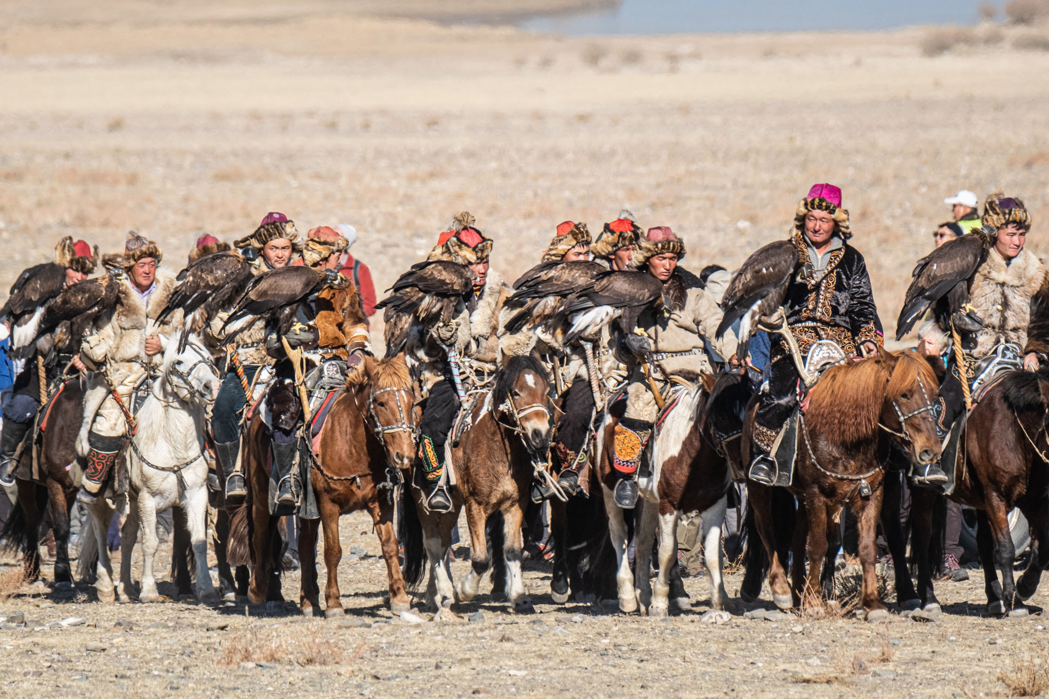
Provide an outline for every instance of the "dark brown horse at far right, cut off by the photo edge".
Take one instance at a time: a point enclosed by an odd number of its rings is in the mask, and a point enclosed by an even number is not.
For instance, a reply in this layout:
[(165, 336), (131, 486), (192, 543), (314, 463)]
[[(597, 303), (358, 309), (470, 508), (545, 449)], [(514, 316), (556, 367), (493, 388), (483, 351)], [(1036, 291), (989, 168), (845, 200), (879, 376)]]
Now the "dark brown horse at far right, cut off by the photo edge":
[[(958, 450), (951, 500), (979, 510), (977, 546), (983, 564), (987, 610), (1026, 616), (1022, 600), (1037, 589), (1049, 565), (1049, 375), (1010, 371), (972, 409)], [(936, 493), (912, 489), (918, 595), (926, 611), (939, 610), (933, 591), (929, 538)], [(1019, 507), (1031, 528), (1031, 555), (1013, 585), (1015, 560), (1008, 514)], [(897, 564), (900, 565), (900, 564)], [(1002, 571), (999, 583), (998, 571)]]

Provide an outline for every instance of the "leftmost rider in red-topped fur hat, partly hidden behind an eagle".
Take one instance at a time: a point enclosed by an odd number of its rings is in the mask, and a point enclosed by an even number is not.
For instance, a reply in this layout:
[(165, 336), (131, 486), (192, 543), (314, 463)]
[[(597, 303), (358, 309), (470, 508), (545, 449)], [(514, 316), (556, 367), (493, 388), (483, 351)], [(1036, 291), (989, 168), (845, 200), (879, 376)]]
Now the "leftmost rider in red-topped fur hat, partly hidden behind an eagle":
[[(92, 249), (83, 240), (73, 242), (72, 238), (67, 236), (55, 247), (55, 265), (63, 270), (61, 288), (87, 279), (94, 271), (98, 262), (98, 247)], [(24, 270), (20, 278), (31, 276), (30, 269)], [(48, 301), (50, 299), (42, 299), (41, 306)], [(37, 315), (37, 313), (34, 314)], [(5, 324), (9, 322), (9, 319), (4, 319)], [(33, 328), (29, 329), (29, 332), (36, 334)], [(18, 465), (14, 461), (15, 453), (28, 434), (29, 428), (33, 427), (33, 419), (41, 407), (40, 367), (33, 356), (41, 353), (41, 348), (36, 346), (36, 336), (26, 337), (22, 341), (21, 348), (15, 348), (10, 352), (10, 354), (16, 355), (17, 359), (20, 359), (18, 364), (21, 365), (21, 371), (15, 375), (14, 384), (9, 390), (3, 392), (2, 401), (0, 401), (3, 406), (3, 434), (0, 436), (0, 484), (2, 485), (9, 486), (15, 483), (15, 468)], [(28, 355), (26, 355), (27, 352)], [(46, 350), (43, 350), (42, 353), (45, 354)], [(44, 376), (44, 381), (49, 384), (70, 358), (68, 355), (60, 356), (58, 362), (51, 363), (49, 371), (46, 372), (47, 375)]]

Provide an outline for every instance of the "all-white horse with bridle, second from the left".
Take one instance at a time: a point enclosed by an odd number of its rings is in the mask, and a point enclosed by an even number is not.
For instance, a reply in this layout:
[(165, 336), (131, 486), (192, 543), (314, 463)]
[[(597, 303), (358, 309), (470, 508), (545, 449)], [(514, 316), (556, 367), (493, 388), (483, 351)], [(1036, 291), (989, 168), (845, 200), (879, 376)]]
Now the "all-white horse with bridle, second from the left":
[[(128, 516), (121, 528), (121, 602), (130, 602), (131, 554), (142, 531), (143, 566), (141, 602), (159, 602), (153, 560), (156, 555), (156, 514), (174, 505), (186, 510), (190, 541), (196, 556), (197, 599), (217, 604), (218, 595), (208, 573), (208, 461), (205, 428), (220, 386), (211, 354), (195, 336), (179, 349), (172, 335), (164, 353), (160, 374), (135, 415), (137, 430), (125, 454), (128, 464)], [(101, 602), (113, 602), (112, 565), (106, 531), (113, 510), (105, 498), (90, 505), (98, 542), (95, 587)]]

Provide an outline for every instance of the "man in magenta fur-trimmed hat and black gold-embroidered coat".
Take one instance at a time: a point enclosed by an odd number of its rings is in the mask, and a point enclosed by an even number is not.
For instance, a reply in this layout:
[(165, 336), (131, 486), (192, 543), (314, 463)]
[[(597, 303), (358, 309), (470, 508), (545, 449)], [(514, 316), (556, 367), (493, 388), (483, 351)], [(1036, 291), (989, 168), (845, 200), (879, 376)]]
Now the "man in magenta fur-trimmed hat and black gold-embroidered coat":
[[(850, 238), (841, 190), (814, 184), (794, 216), (791, 241), (797, 249), (797, 262), (784, 300), (786, 324), (802, 358), (818, 341), (837, 344), (847, 356), (866, 356), (882, 344), (866, 263), (848, 243)], [(759, 393), (755, 456), (749, 473), (751, 480), (766, 485), (775, 482), (773, 442), (797, 405), (800, 376), (790, 352), (783, 336), (773, 335), (768, 389)]]

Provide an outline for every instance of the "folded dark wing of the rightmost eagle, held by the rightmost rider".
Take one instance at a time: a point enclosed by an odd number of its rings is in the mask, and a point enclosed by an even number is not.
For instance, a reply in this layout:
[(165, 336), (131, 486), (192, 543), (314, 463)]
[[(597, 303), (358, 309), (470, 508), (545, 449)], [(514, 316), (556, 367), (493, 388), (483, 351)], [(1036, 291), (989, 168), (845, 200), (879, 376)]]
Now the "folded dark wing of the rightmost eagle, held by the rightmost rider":
[(987, 247), (983, 234), (975, 233), (949, 240), (918, 260), (896, 321), (897, 340), (911, 331), (929, 306), (972, 277)]

